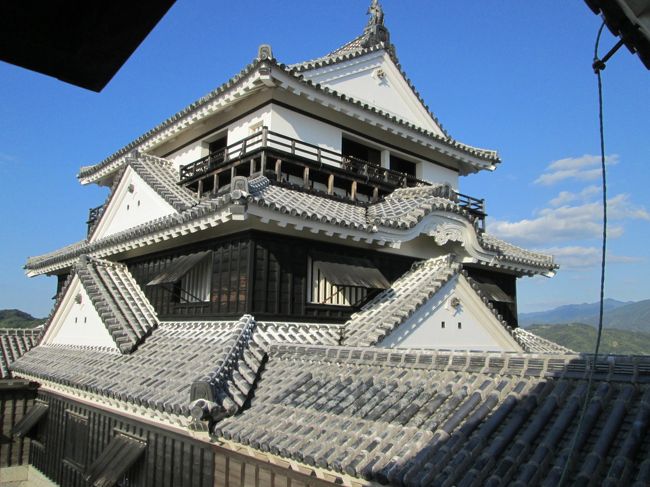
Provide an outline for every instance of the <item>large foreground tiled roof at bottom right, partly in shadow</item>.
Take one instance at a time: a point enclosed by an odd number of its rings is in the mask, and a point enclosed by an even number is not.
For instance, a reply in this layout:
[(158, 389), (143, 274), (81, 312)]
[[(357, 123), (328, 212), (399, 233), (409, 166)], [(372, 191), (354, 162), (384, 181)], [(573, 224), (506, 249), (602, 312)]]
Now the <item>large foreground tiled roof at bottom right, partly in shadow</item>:
[[(557, 485), (587, 365), (579, 356), (274, 346), (250, 409), (214, 435), (391, 485)], [(586, 418), (569, 484), (647, 485), (650, 360), (599, 362)]]

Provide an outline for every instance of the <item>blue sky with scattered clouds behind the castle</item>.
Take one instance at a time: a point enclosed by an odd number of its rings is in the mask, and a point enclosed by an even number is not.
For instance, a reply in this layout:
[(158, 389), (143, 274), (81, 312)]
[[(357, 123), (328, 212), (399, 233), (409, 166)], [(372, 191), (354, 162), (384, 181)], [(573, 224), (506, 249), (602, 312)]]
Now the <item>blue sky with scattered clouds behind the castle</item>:
[[(487, 200), (488, 231), (551, 251), (553, 279), (524, 278), (520, 311), (598, 298), (596, 77), (600, 19), (581, 1), (384, 0), (402, 67), (456, 139), (497, 149), (494, 173), (461, 181)], [(81, 240), (106, 189), (101, 161), (237, 73), (271, 44), (291, 63), (360, 34), (367, 0), (178, 2), (100, 94), (0, 63), (0, 308), (45, 316), (55, 279), (28, 256)], [(608, 32), (602, 51), (614, 43)], [(611, 240), (606, 295), (650, 297), (650, 72), (622, 49), (603, 73)]]

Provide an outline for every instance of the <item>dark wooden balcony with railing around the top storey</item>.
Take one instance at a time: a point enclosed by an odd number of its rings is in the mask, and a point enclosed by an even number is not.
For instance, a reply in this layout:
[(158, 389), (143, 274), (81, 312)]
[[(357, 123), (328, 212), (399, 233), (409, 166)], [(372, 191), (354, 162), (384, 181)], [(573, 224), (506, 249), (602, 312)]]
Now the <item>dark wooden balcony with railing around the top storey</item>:
[[(267, 127), (181, 166), (180, 184), (201, 198), (217, 193), (235, 176), (255, 174), (265, 174), (277, 184), (357, 204), (378, 201), (397, 188), (431, 185), (415, 176), (293, 139)], [(483, 200), (453, 190), (447, 193), (440, 196), (466, 208), (484, 228)]]

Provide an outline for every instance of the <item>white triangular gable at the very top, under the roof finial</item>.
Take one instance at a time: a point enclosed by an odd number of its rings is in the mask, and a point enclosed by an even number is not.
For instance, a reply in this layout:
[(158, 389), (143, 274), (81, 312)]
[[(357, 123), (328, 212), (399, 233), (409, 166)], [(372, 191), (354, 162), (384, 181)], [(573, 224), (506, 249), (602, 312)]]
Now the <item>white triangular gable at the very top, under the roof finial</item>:
[(444, 137), (444, 132), (384, 50), (304, 71), (305, 78)]

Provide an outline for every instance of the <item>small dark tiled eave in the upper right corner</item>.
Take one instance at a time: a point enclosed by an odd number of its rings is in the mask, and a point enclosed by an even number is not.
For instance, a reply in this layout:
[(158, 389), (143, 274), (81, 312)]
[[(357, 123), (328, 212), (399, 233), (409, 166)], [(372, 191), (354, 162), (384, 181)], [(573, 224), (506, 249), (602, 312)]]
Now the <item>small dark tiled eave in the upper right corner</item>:
[(585, 0), (601, 14), (612, 34), (636, 52), (650, 69), (650, 0)]

